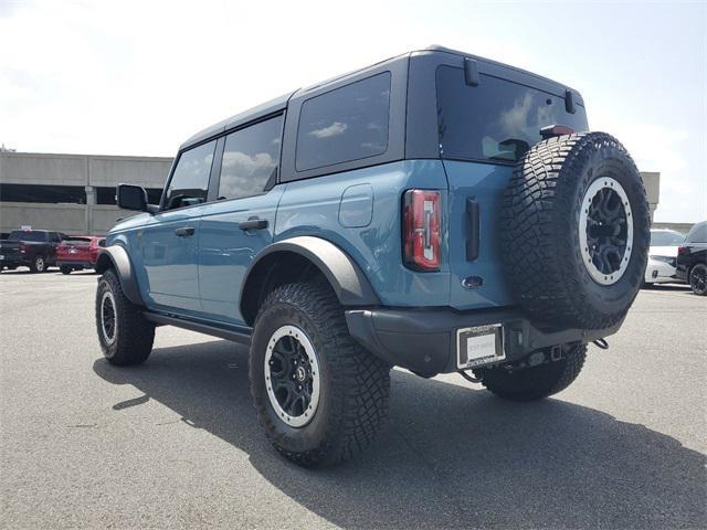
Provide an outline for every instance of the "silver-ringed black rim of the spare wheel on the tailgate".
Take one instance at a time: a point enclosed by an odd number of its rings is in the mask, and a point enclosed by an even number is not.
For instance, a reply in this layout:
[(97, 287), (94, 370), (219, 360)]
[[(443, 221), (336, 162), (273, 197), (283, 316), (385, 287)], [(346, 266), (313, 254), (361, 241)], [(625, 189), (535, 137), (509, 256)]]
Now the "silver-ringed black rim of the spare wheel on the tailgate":
[(613, 285), (631, 261), (633, 215), (623, 187), (610, 177), (594, 180), (582, 198), (579, 216), (582, 263), (594, 282)]

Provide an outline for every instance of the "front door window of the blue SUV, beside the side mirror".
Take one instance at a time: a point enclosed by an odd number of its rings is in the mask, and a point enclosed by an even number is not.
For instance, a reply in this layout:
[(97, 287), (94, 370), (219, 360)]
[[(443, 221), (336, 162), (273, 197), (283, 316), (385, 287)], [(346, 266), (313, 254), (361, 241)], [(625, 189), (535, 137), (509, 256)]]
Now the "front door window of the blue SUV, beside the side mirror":
[(191, 206), (207, 201), (215, 146), (217, 141), (213, 140), (181, 153), (167, 189), (166, 210)]

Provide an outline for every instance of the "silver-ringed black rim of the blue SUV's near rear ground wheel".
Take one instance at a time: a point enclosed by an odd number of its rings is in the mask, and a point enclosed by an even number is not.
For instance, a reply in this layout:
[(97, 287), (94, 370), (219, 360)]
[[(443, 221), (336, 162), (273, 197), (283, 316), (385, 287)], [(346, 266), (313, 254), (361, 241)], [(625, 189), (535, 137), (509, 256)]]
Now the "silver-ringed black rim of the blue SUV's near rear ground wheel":
[(282, 326), (265, 350), (265, 388), (281, 421), (304, 427), (319, 405), (320, 373), (309, 337), (296, 326)]

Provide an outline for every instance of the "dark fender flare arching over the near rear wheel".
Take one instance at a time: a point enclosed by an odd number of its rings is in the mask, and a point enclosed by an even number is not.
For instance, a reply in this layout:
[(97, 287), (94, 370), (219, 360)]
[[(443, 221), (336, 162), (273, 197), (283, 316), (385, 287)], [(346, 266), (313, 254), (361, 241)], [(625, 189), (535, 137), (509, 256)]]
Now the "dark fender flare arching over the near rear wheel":
[(244, 294), (254, 280), (252, 273), (258, 263), (274, 253), (294, 253), (312, 262), (327, 278), (342, 306), (379, 306), (380, 300), (358, 264), (342, 248), (330, 241), (300, 235), (273, 243), (253, 258), (241, 284), (240, 306), (244, 311)]

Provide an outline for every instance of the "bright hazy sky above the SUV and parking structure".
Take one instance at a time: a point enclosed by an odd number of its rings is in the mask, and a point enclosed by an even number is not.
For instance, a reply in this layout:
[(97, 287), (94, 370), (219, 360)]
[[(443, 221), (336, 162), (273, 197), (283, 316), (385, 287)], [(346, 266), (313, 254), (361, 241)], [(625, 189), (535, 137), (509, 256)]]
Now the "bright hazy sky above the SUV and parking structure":
[(656, 221), (707, 219), (707, 0), (0, 0), (0, 144), (173, 156), (272, 97), (430, 44), (579, 89), (661, 172)]

